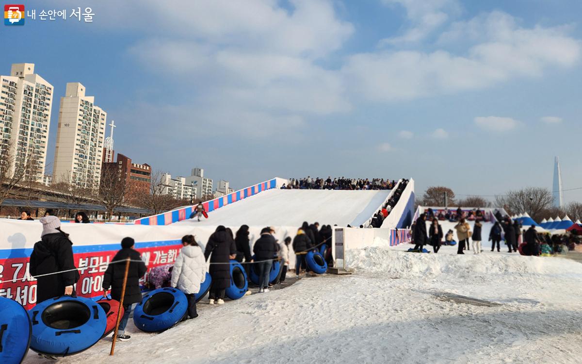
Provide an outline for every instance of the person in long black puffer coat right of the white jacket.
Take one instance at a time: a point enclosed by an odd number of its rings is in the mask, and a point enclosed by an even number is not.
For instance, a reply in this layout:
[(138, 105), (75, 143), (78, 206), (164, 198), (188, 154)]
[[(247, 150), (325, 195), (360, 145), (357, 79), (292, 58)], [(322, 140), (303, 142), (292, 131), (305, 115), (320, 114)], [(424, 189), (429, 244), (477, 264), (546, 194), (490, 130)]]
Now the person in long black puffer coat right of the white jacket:
[[(226, 232), (226, 228), (220, 225), (216, 231), (208, 238), (208, 244), (204, 250), (204, 257), (210, 257), (210, 269), (208, 272), (212, 277), (208, 303), (218, 305), (224, 303), (226, 288), (230, 287), (230, 259), (236, 258), (235, 240)], [(219, 264), (212, 264), (219, 263)]]

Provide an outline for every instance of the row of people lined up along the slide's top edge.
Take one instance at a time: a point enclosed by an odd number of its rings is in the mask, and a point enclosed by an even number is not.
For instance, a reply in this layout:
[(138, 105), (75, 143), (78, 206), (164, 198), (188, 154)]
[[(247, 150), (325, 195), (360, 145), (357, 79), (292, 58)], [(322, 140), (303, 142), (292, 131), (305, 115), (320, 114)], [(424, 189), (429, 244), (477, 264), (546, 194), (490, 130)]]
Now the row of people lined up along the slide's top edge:
[(281, 189), (314, 189), (314, 190), (391, 190), (396, 185), (396, 181), (384, 178), (290, 178), (289, 184), (283, 185)]

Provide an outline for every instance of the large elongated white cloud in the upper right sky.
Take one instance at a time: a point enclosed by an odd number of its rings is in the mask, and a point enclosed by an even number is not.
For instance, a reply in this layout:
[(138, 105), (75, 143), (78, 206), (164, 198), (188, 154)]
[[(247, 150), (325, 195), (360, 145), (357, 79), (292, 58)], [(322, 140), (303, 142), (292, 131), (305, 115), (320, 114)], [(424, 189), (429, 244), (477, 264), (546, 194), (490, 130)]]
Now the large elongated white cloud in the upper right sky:
[[(477, 24), (484, 29), (478, 36)], [(371, 101), (411, 100), (539, 77), (546, 68), (572, 67), (580, 58), (580, 41), (568, 36), (568, 29), (520, 27), (502, 12), (457, 23), (456, 29), (449, 39), (469, 34), (463, 38), (469, 43), (464, 55), (437, 50), (349, 56), (342, 68), (348, 87)]]

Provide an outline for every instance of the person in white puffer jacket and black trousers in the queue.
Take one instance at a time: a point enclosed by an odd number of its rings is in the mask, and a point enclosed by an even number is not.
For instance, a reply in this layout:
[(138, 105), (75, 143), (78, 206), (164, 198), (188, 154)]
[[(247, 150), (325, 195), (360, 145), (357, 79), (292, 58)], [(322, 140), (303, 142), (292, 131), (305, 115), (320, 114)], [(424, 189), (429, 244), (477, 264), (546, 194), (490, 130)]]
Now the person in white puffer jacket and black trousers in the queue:
[(188, 299), (188, 318), (194, 319), (198, 317), (196, 294), (200, 291), (200, 284), (206, 278), (206, 260), (193, 235), (184, 236), (182, 245), (183, 248), (172, 269), (171, 285), (184, 292)]

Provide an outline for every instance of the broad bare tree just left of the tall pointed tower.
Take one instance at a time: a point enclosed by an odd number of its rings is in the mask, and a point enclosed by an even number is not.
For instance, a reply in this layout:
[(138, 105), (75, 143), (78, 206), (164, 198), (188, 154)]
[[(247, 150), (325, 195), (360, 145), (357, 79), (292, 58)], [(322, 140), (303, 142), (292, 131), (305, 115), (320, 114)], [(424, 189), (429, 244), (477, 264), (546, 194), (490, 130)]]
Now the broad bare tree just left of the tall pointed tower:
[(503, 206), (510, 215), (528, 213), (535, 221), (539, 221), (544, 218), (544, 211), (552, 206), (553, 197), (546, 188), (527, 187), (509, 191), (505, 196), (497, 196), (495, 203)]

